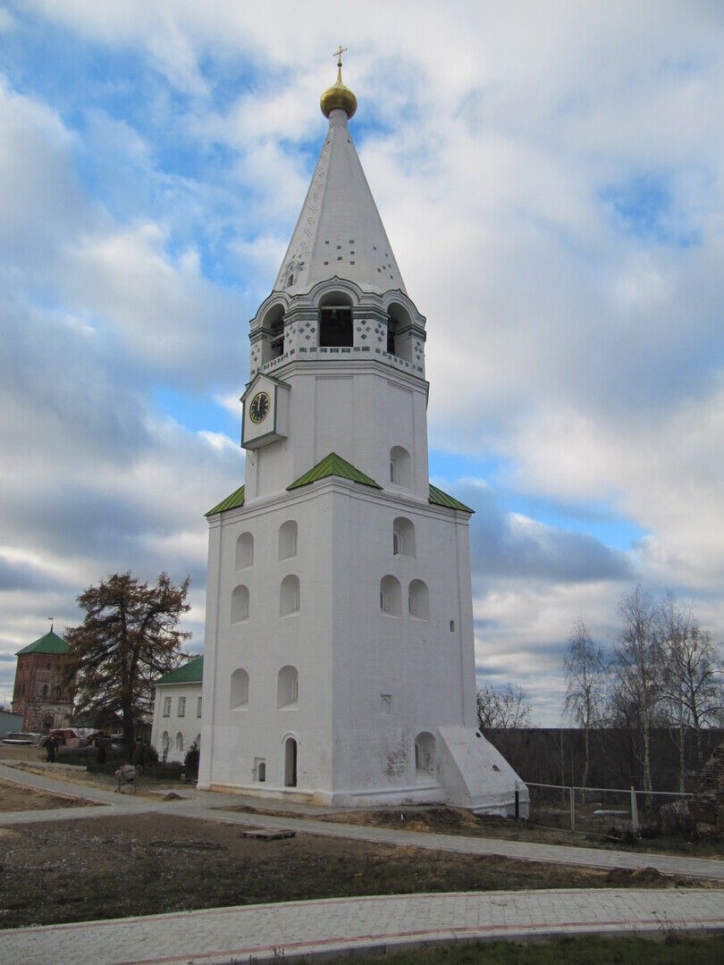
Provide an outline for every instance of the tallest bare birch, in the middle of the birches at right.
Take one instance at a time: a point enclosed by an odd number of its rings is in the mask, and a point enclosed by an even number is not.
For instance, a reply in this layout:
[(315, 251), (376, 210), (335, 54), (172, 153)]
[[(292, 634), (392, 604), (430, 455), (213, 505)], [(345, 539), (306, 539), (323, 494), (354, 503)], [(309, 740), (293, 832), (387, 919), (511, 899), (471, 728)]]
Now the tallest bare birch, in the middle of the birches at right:
[(615, 713), (635, 727), (642, 745), (644, 790), (653, 790), (651, 729), (662, 696), (662, 650), (654, 605), (640, 586), (620, 604), (623, 627), (616, 646), (612, 701)]

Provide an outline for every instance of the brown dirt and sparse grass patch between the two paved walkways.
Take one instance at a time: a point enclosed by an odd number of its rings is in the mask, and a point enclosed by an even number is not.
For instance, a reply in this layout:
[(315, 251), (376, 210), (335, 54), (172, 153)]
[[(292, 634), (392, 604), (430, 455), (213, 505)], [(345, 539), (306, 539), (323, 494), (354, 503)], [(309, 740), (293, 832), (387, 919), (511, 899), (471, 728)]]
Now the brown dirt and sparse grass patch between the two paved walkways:
[(606, 872), (297, 835), (167, 814), (5, 829), (0, 928), (264, 901), (526, 888), (685, 887), (654, 869)]

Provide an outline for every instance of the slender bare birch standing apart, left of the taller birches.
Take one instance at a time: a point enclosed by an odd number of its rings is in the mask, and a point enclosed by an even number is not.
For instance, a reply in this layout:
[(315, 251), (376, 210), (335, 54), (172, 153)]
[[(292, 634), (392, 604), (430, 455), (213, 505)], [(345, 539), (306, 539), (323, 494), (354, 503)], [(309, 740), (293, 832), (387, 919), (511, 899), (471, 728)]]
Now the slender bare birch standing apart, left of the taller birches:
[(567, 690), (564, 713), (583, 730), (584, 764), (581, 785), (588, 786), (591, 762), (591, 729), (599, 722), (605, 698), (606, 660), (602, 648), (591, 638), (585, 620), (573, 624), (569, 648), (564, 657)]

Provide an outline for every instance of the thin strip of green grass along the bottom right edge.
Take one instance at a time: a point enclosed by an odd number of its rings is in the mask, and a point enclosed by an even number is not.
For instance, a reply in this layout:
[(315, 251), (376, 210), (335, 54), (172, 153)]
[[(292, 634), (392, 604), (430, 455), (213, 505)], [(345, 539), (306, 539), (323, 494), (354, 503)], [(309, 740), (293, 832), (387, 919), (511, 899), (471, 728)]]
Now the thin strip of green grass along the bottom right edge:
[(645, 938), (564, 938), (553, 942), (489, 942), (327, 958), (325, 965), (720, 965), (724, 936), (663, 941)]

